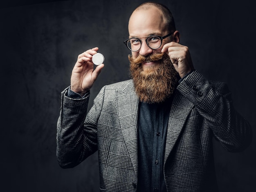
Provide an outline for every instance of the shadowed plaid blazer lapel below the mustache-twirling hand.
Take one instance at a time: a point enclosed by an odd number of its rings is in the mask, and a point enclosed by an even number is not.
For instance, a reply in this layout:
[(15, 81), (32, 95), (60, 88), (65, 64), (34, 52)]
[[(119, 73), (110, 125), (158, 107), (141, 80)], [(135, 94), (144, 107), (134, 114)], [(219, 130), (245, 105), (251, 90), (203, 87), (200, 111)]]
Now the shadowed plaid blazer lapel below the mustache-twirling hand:
[(175, 145), (193, 106), (193, 103), (187, 100), (184, 96), (182, 96), (182, 94), (180, 94), (180, 92), (176, 90), (169, 114), (164, 164), (166, 163), (169, 154), (173, 150), (173, 146)]

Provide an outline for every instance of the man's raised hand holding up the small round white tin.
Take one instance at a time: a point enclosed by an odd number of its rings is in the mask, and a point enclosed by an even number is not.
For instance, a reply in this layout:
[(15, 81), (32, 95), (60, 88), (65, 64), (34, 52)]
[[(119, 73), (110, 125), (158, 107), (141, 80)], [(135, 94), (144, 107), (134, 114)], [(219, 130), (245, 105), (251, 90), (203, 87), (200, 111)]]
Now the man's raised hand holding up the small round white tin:
[(98, 50), (98, 47), (94, 47), (80, 54), (72, 70), (70, 89), (81, 96), (90, 91), (101, 69), (104, 67), (104, 64), (101, 64), (95, 69), (93, 68), (92, 56), (97, 54)]

